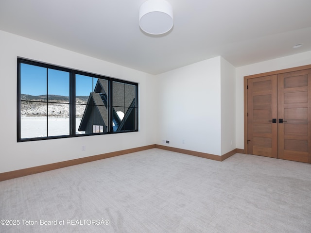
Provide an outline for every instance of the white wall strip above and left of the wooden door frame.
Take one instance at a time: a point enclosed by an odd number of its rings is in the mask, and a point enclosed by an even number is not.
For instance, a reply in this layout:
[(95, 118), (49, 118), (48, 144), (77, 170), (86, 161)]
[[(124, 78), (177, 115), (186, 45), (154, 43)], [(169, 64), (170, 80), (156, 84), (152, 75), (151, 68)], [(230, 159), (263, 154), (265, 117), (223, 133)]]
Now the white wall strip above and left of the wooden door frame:
[(311, 51), (236, 68), (236, 147), (244, 149), (244, 76), (311, 64)]

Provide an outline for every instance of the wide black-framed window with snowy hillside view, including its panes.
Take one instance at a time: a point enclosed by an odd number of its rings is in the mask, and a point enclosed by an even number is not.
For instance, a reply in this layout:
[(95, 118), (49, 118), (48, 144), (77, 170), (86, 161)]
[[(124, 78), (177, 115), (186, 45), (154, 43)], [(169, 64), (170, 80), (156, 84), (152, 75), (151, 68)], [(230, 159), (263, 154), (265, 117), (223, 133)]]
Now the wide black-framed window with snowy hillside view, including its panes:
[(138, 131), (138, 83), (17, 59), (17, 141)]

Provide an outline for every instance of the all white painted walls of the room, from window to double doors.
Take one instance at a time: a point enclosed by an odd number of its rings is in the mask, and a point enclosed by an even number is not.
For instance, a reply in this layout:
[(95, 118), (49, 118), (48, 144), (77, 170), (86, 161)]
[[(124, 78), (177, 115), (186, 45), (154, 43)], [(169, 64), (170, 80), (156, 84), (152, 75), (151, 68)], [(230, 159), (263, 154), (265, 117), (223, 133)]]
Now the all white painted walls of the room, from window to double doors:
[[(153, 76), (11, 33), (0, 38), (0, 173), (151, 144), (215, 155), (243, 149), (243, 77), (311, 64), (311, 51), (238, 68), (219, 56)], [(139, 83), (139, 132), (17, 143), (17, 56)]]

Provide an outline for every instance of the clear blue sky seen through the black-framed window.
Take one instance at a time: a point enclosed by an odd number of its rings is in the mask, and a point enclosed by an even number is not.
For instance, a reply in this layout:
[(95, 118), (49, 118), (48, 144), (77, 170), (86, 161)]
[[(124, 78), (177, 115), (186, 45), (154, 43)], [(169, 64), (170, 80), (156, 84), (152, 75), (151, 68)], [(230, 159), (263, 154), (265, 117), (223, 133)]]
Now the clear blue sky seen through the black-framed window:
[[(49, 95), (69, 96), (69, 72), (21, 64), (21, 94), (39, 96), (47, 94), (47, 75)], [(76, 96), (89, 96), (97, 79), (76, 75)]]

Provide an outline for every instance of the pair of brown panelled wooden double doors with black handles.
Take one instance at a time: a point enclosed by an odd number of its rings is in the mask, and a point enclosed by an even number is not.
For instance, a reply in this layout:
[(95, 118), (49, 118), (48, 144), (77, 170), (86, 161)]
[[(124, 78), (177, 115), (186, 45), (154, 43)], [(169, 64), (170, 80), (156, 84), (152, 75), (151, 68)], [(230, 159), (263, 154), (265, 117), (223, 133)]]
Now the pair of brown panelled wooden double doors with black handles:
[(248, 153), (311, 163), (311, 69), (250, 78), (247, 88)]

